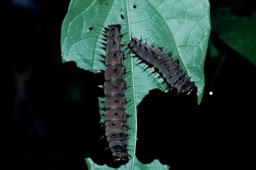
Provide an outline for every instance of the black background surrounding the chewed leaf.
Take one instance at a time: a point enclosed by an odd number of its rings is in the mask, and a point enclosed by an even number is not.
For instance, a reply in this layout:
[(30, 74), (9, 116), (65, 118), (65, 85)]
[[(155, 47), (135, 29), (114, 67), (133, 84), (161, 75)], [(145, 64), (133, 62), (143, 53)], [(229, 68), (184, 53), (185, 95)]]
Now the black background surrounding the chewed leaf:
[[(12, 11), (12, 121), (22, 165), (86, 169), (84, 157), (111, 165), (98, 124), (97, 97), (103, 91), (97, 85), (103, 84), (103, 75), (61, 62), (61, 22), (69, 1), (28, 2), (13, 1)], [(253, 11), (252, 3), (238, 0), (211, 1), (211, 11), (221, 5), (239, 16)], [(226, 57), (214, 78), (221, 58), (207, 53), (200, 106), (196, 96), (159, 90), (150, 91), (138, 106), (136, 156), (141, 162), (159, 159), (171, 169), (255, 168), (255, 67), (214, 32), (211, 38)]]

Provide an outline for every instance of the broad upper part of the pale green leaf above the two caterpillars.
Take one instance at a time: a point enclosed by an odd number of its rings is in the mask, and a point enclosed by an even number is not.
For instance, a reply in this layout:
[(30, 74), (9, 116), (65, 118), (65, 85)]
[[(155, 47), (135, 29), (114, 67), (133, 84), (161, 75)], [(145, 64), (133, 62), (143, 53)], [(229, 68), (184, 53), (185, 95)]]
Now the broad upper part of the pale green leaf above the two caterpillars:
[[(133, 8), (136, 6), (136, 8)], [(124, 16), (124, 19), (120, 15)], [(164, 46), (178, 57), (198, 87), (198, 103), (204, 90), (204, 59), (210, 32), (209, 2), (184, 1), (83, 1), (73, 0), (61, 29), (63, 62), (98, 73), (104, 69), (96, 55), (100, 25), (122, 24), (122, 32), (142, 36)], [(93, 27), (92, 31), (89, 30)], [(124, 39), (124, 41), (128, 38)]]

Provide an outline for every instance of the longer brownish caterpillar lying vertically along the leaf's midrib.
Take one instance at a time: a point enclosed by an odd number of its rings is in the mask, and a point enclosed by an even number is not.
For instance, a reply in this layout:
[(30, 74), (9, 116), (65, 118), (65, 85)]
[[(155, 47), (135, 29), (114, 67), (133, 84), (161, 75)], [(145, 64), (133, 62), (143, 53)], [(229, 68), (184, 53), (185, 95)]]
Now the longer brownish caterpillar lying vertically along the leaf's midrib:
[(127, 115), (125, 114), (125, 81), (123, 66), (124, 53), (120, 39), (120, 25), (109, 25), (104, 28), (106, 38), (104, 109), (105, 131), (109, 148), (114, 160), (126, 161), (127, 153)]

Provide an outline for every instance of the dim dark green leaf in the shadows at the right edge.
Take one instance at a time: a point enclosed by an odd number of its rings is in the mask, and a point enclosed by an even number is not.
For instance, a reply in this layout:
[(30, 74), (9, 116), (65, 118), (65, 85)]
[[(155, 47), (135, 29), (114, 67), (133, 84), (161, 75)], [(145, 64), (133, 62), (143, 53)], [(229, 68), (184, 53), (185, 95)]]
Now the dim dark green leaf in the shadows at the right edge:
[(251, 18), (236, 15), (217, 15), (212, 29), (228, 46), (256, 66), (256, 13)]

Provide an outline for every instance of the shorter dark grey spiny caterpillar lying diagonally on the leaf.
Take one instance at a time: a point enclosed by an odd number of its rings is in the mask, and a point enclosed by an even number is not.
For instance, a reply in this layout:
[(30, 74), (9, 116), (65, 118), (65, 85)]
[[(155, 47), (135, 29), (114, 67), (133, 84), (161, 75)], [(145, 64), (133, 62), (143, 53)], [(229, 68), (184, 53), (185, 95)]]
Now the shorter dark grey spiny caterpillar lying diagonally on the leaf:
[(178, 93), (189, 94), (196, 90), (195, 83), (186, 77), (186, 73), (180, 69), (179, 60), (173, 59), (172, 53), (164, 53), (163, 48), (156, 49), (136, 38), (132, 38), (127, 45), (141, 59), (141, 62), (154, 66), (163, 75), (164, 80), (172, 88), (177, 89)]

